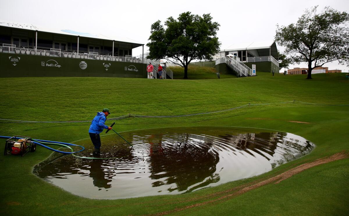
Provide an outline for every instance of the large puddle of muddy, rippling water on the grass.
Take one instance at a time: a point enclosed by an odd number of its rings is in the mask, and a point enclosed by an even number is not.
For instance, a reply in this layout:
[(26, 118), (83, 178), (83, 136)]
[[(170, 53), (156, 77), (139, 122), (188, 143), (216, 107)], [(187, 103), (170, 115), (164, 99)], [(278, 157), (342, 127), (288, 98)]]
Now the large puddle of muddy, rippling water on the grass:
[[(95, 199), (179, 194), (268, 172), (308, 154), (314, 144), (284, 132), (237, 127), (172, 127), (101, 136), (101, 157), (54, 153), (34, 173)], [(102, 134), (101, 134), (102, 135)], [(89, 139), (78, 156), (92, 157)]]

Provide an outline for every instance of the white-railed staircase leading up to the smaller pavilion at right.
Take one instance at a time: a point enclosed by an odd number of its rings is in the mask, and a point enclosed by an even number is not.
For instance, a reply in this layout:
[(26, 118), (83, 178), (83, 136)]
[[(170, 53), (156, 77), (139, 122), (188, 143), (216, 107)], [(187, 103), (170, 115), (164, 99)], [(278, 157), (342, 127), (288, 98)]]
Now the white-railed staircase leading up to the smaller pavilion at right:
[(252, 76), (252, 69), (247, 67), (243, 62), (241, 62), (236, 57), (222, 57), (216, 60), (216, 65), (220, 63), (225, 63), (229, 68), (231, 68), (237, 77)]

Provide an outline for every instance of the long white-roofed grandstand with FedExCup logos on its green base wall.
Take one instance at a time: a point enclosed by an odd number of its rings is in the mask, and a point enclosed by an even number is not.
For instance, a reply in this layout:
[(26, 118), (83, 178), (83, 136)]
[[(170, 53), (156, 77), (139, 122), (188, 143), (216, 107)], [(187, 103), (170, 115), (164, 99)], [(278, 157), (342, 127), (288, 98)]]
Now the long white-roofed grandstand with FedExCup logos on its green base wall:
[(0, 21), (0, 77), (147, 77), (146, 60), (131, 39)]

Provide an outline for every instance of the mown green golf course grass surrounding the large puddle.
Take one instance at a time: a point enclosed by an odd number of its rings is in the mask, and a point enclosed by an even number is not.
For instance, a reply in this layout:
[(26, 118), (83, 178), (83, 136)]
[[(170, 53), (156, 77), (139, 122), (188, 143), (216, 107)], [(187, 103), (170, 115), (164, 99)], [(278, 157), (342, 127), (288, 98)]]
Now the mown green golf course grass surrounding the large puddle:
[[(124, 114), (175, 115), (229, 109), (247, 103), (300, 100), (349, 104), (344, 73), (258, 76), (210, 80), (148, 80), (95, 77), (29, 77), (0, 79), (0, 118), (38, 121), (91, 120), (108, 107), (110, 118)], [(196, 75), (188, 74), (189, 77)], [(199, 74), (197, 75), (199, 77)], [(301, 124), (289, 121), (309, 122)], [(0, 156), (1, 215), (144, 215), (182, 208), (198, 196), (275, 176), (296, 165), (337, 152), (348, 152), (349, 107), (300, 103), (252, 106), (184, 118), (127, 118), (116, 131), (169, 126), (239, 126), (294, 133), (316, 144), (311, 154), (261, 176), (180, 195), (120, 200), (81, 198), (32, 174), (32, 167), (51, 152), (38, 147), (23, 158)], [(88, 137), (88, 123), (0, 123), (0, 135), (72, 142)], [(5, 140), (0, 140), (2, 143)], [(190, 208), (172, 215), (348, 215), (349, 159), (315, 166), (279, 184), (254, 189), (232, 199)], [(213, 198), (208, 198), (210, 200)], [(168, 203), (162, 205), (162, 203)]]

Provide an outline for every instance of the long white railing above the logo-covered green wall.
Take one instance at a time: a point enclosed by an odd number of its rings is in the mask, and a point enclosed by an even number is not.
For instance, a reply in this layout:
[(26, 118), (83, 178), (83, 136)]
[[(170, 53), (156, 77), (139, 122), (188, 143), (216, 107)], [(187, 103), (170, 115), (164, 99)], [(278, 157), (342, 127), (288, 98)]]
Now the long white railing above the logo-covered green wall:
[[(49, 50), (50, 49), (50, 50)], [(111, 55), (99, 55), (97, 52), (89, 53), (76, 53), (76, 52), (66, 52), (61, 51), (61, 49), (53, 49), (44, 47), (42, 49), (29, 49), (29, 48), (18, 48), (13, 44), (2, 44), (0, 46), (0, 52), (2, 53), (15, 53), (24, 55), (41, 55), (41, 56), (52, 56), (61, 58), (77, 58), (77, 59), (96, 59), (104, 61), (123, 61), (123, 62), (133, 62), (142, 63), (142, 59), (132, 57), (131, 55), (126, 55), (126, 57), (121, 56), (111, 56)]]

